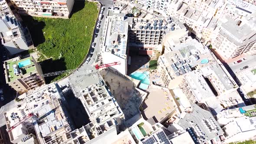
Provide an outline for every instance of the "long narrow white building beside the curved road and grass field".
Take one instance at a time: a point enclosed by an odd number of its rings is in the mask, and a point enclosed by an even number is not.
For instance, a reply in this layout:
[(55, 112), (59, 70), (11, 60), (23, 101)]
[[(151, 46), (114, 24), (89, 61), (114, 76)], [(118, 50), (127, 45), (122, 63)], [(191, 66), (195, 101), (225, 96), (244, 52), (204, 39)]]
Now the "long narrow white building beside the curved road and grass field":
[(128, 21), (124, 20), (125, 13), (119, 10), (108, 10), (103, 29), (101, 52), (103, 63), (119, 62), (111, 68), (123, 75), (128, 67)]

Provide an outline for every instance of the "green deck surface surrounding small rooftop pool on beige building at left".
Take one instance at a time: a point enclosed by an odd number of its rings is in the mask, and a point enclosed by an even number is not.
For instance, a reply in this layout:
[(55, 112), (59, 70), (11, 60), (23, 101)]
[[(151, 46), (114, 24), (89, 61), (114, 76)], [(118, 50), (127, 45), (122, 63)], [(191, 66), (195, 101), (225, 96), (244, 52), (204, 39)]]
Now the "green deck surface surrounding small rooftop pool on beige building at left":
[[(33, 65), (33, 64), (34, 64), (34, 62), (31, 61), (31, 60), (33, 60), (31, 56), (30, 56), (30, 57), (27, 57), (27, 58), (25, 58), (25, 59), (17, 60), (16, 62), (13, 62), (12, 59), (10, 59), (9, 61), (7, 61), (7, 64), (8, 64), (9, 67), (10, 67), (10, 69), (8, 70), (8, 71), (9, 71), (9, 72), (8, 72), (8, 75), (11, 75), (11, 77), (9, 78), (9, 79), (10, 79), (10, 82), (13, 81), (13, 80), (15, 80), (15, 79), (20, 78), (20, 76), (14, 75), (13, 65), (16, 64), (16, 65), (18, 66), (19, 62), (23, 62), (23, 61), (25, 61), (25, 60), (27, 60), (27, 59), (30, 59), (30, 62), (31, 62), (30, 65)], [(26, 65), (26, 66), (22, 67), (22, 69), (25, 69), (26, 67), (29, 67), (30, 65)], [(30, 67), (30, 68), (28, 68), (28, 69), (26, 69), (26, 70), (23, 70), (23, 75), (25, 75), (26, 73), (29, 73), (29, 72), (33, 72), (34, 70), (36, 70), (35, 66)]]

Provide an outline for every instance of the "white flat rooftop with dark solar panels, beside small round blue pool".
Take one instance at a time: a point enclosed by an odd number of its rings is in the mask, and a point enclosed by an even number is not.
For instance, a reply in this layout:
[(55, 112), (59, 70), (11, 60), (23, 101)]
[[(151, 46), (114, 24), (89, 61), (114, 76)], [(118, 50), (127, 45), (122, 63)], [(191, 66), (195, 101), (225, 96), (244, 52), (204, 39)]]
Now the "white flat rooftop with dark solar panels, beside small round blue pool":
[[(192, 67), (197, 65), (204, 67), (215, 62), (209, 50), (196, 39), (180, 43), (170, 49), (171, 52), (164, 53), (159, 59), (170, 71), (169, 75), (173, 78), (185, 75), (191, 71)], [(208, 59), (209, 63), (202, 64), (201, 60), (203, 59)]]

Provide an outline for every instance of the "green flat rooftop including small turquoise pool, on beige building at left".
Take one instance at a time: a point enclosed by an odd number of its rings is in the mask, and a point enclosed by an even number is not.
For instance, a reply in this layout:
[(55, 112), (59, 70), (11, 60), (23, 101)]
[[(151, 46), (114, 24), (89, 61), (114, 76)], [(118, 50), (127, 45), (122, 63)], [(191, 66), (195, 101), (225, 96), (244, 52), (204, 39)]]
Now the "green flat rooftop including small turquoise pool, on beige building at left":
[(16, 57), (4, 61), (7, 69), (8, 82), (19, 79), (21, 76), (29, 74), (30, 72), (36, 71), (36, 66), (34, 65), (34, 60), (32, 56), (25, 59), (20, 59)]

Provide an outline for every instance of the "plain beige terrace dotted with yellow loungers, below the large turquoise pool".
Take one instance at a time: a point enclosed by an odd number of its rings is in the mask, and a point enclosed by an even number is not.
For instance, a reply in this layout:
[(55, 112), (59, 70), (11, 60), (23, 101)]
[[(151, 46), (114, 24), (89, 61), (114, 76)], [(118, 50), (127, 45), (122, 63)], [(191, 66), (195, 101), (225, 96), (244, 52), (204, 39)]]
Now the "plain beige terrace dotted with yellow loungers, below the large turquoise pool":
[(161, 121), (166, 115), (175, 111), (177, 105), (169, 91), (158, 89), (149, 93), (142, 107), (144, 119), (154, 117), (157, 121)]

